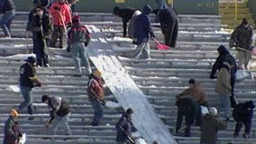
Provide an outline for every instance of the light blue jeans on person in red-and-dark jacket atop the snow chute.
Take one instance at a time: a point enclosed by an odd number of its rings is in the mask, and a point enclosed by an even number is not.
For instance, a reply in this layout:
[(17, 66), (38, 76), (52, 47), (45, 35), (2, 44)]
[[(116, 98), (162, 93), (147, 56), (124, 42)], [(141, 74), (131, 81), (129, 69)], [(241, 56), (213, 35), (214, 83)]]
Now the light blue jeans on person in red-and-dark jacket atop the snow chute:
[[(82, 65), (85, 66), (87, 69), (87, 74), (90, 74), (91, 67), (89, 64), (89, 60), (87, 58), (87, 47), (85, 46), (85, 43), (84, 42), (72, 43), (70, 46), (70, 52), (75, 62), (76, 72), (78, 74), (82, 73), (82, 70), (81, 70), (81, 63), (82, 63)], [(81, 61), (80, 61), (80, 58), (81, 58)]]

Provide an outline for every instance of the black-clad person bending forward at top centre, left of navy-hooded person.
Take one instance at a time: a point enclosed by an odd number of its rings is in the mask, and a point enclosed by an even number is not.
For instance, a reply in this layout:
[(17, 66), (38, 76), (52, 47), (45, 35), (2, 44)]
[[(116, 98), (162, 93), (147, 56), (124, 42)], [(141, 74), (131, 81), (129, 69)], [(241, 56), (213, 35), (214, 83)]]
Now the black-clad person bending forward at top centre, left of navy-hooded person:
[(127, 23), (131, 20), (135, 9), (132, 8), (119, 8), (118, 6), (114, 7), (113, 14), (122, 18), (123, 21), (123, 37), (127, 35)]

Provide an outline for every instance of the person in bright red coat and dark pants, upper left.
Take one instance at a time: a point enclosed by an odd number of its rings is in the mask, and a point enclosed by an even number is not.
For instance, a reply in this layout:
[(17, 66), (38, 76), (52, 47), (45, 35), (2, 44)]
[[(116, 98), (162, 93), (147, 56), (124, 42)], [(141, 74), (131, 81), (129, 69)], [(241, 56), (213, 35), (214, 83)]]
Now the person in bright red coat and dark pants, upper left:
[(62, 37), (64, 34), (67, 34), (65, 33), (67, 32), (66, 26), (70, 27), (72, 25), (69, 4), (66, 4), (66, 0), (59, 0), (50, 5), (49, 11), (53, 21), (50, 47), (56, 48), (56, 43), (59, 39), (59, 48), (62, 49)]

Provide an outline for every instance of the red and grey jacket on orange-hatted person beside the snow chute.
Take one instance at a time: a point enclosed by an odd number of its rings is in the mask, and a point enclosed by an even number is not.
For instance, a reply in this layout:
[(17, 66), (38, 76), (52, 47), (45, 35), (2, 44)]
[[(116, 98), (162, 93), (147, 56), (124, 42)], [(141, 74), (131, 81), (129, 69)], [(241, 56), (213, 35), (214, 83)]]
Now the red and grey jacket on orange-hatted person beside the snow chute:
[(100, 79), (94, 75), (89, 77), (87, 83), (87, 94), (89, 101), (96, 101), (97, 99), (104, 99), (104, 87), (100, 83)]

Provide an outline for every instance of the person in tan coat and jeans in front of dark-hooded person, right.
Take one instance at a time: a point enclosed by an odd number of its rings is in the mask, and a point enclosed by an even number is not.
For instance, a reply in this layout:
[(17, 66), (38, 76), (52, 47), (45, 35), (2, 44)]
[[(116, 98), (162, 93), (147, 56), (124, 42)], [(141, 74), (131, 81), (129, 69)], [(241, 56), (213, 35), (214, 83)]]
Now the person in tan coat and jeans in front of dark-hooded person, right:
[(221, 67), (220, 71), (218, 72), (216, 86), (215, 86), (215, 93), (219, 94), (220, 97), (220, 109), (224, 108), (224, 117), (225, 121), (230, 121), (231, 116), (231, 103), (230, 97), (231, 96), (231, 84), (230, 84), (230, 77), (231, 77), (231, 66), (228, 62), (224, 62), (223, 66)]

